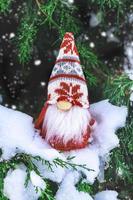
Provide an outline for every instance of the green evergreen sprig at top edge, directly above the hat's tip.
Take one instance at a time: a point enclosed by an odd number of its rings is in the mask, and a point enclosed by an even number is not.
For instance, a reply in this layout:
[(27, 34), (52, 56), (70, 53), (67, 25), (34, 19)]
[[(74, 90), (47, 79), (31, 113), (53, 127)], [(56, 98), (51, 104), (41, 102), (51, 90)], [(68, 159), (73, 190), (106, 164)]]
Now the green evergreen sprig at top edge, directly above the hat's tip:
[(75, 10), (74, 6), (68, 7), (67, 4), (60, 0), (51, 0), (45, 4), (39, 0), (35, 1), (40, 12), (45, 16), (44, 23), (48, 22), (50, 26), (53, 25), (61, 37), (64, 36), (65, 32), (74, 32), (75, 34), (78, 32), (79, 21), (72, 16)]

